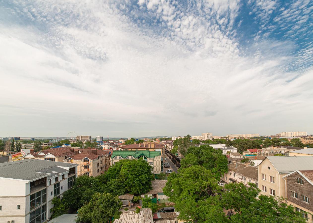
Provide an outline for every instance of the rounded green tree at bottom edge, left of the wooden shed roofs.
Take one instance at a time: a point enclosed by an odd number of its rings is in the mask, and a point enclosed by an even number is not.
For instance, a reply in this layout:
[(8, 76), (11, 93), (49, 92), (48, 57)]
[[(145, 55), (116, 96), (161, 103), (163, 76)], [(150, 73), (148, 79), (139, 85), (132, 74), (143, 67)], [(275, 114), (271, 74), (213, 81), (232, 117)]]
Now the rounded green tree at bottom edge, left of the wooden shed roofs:
[(122, 207), (121, 200), (109, 193), (95, 193), (78, 210), (76, 222), (108, 222)]

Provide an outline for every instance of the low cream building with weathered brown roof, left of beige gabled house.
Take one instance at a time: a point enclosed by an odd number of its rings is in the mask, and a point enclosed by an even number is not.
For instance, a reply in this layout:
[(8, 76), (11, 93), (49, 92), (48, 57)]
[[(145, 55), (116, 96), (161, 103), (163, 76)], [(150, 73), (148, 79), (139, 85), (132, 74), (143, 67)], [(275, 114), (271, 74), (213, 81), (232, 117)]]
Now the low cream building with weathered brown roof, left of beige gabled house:
[(221, 177), (226, 183), (254, 183), (258, 186), (258, 168), (246, 163), (234, 162), (228, 164), (228, 172)]

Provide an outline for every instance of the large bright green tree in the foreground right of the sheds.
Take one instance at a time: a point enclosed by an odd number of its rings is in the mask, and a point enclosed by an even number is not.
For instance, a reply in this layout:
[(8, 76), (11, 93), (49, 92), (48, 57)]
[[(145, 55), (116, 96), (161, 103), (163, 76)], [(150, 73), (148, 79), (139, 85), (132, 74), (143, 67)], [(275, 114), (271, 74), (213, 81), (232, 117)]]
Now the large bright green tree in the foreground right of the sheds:
[(179, 219), (198, 223), (227, 221), (216, 196), (221, 187), (211, 171), (202, 166), (193, 165), (172, 173), (163, 192), (175, 203)]

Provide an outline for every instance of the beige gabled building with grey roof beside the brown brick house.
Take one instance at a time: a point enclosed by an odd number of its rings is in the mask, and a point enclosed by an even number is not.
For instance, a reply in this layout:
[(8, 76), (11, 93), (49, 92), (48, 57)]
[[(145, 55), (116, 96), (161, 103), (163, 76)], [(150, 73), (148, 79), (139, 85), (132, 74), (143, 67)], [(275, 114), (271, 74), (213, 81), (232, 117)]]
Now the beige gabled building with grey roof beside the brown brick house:
[(258, 166), (261, 194), (286, 198), (283, 177), (295, 170), (313, 170), (313, 156), (267, 156)]

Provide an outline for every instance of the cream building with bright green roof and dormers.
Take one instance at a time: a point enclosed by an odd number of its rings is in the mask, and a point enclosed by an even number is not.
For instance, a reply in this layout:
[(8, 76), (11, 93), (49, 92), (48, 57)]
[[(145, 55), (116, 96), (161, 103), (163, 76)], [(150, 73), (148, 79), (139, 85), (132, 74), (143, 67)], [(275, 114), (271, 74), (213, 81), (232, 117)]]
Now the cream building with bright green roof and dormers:
[(144, 159), (147, 161), (153, 170), (155, 176), (156, 174), (163, 172), (163, 158), (161, 156), (161, 151), (149, 151), (149, 150), (136, 150), (136, 151), (127, 151), (127, 150), (116, 150), (113, 151), (111, 156), (111, 165), (114, 165), (116, 162), (124, 159)]

